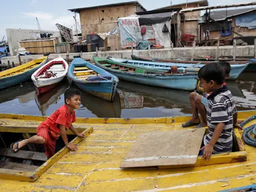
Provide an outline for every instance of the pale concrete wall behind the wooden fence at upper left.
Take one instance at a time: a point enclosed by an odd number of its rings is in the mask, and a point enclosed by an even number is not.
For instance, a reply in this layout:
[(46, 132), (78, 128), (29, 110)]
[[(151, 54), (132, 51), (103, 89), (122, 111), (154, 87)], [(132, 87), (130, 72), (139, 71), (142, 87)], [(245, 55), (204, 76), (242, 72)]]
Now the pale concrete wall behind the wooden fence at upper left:
[[(40, 33), (39, 30), (31, 30), (31, 29), (6, 29), (7, 34), (7, 40), (9, 43), (9, 49), (11, 55), (16, 55), (15, 49), (19, 48), (18, 41), (25, 40), (25, 39), (31, 39), (33, 38), (34, 34)], [(51, 37), (61, 37), (59, 31), (43, 31), (46, 33), (53, 33), (53, 36)], [(59, 38), (59, 41), (61, 41), (61, 38)]]

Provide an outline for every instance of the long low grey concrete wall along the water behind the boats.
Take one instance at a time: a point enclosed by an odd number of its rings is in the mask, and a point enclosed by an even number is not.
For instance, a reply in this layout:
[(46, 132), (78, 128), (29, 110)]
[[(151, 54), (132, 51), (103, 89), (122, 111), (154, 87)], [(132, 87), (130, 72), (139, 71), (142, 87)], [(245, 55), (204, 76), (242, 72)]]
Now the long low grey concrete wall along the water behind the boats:
[[(151, 58), (159, 58), (159, 59), (170, 59), (170, 58), (182, 58), (182, 57), (192, 57), (193, 47), (175, 47), (173, 49), (151, 49), (151, 50), (134, 50), (134, 55), (141, 57), (151, 57)], [(254, 57), (254, 45), (247, 46), (237, 46), (236, 55), (239, 57)], [(203, 55), (209, 55), (211, 57), (215, 57), (217, 53), (217, 47), (195, 47), (195, 57), (202, 57)], [(78, 56), (81, 53), (70, 53), (69, 58), (73, 59), (74, 56)], [(63, 54), (51, 54), (49, 55), (49, 59), (54, 59), (58, 56), (61, 56), (63, 59), (66, 59), (66, 53)], [(90, 53), (82, 53), (83, 59), (91, 59), (95, 55), (95, 52)], [(116, 58), (124, 58), (130, 59), (132, 55), (131, 50), (124, 51), (103, 51), (98, 52), (99, 57), (116, 57)], [(223, 46), (219, 47), (219, 55), (220, 56), (229, 56), (233, 55), (233, 46)], [(22, 63), (27, 63), (32, 59), (37, 59), (41, 57), (41, 55), (26, 55), (21, 56)], [(19, 63), (19, 59), (17, 56), (13, 57), (3, 57), (1, 58), (2, 64), (0, 67), (7, 67), (8, 61), (10, 64)]]

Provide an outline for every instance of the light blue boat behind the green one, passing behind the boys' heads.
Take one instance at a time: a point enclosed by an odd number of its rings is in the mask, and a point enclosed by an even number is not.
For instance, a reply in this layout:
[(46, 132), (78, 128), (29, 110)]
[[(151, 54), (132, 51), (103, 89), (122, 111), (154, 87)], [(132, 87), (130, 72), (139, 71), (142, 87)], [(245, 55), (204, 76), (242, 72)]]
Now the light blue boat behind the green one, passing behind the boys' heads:
[[(178, 67), (203, 67), (207, 63), (212, 63), (212, 61), (182, 61), (182, 60), (167, 60), (163, 61), (161, 59), (146, 59), (144, 57), (137, 57), (132, 55), (133, 60), (122, 59), (123, 62), (130, 63), (133, 65), (144, 65), (145, 67), (154, 67), (155, 69), (170, 69), (170, 66), (176, 65)], [(141, 60), (140, 60), (141, 59)], [(253, 66), (256, 68), (255, 62), (245, 62), (245, 61), (229, 61), (231, 64), (230, 78), (235, 80), (245, 71)]]

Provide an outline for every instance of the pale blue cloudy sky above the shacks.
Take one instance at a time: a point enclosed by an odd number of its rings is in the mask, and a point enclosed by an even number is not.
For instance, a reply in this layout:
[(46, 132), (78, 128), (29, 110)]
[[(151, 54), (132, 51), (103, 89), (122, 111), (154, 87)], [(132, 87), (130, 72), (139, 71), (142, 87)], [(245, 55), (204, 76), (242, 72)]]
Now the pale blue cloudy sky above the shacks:
[[(9, 0), (4, 3), (0, 11), (0, 41), (5, 35), (5, 29), (37, 29), (38, 18), (41, 29), (57, 30), (56, 23), (74, 29), (74, 13), (68, 9), (79, 7), (92, 7), (110, 3), (120, 3), (129, 0)], [(135, 0), (134, 0), (135, 1)], [(138, 0), (148, 11), (179, 3), (186, 0)], [(191, 0), (188, 0), (190, 2)], [(193, 0), (192, 0), (193, 1)], [(156, 3), (157, 2), (157, 3)], [(209, 5), (228, 5), (233, 3), (244, 3), (243, 0), (209, 0)]]

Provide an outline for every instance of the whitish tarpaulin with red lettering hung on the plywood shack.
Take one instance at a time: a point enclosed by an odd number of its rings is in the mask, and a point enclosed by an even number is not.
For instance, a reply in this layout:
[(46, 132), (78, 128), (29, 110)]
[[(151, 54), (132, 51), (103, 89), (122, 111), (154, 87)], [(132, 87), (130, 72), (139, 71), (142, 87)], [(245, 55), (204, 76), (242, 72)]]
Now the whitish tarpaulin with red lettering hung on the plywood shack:
[(122, 17), (118, 19), (121, 47), (136, 47), (142, 41), (138, 17)]

